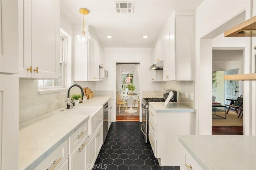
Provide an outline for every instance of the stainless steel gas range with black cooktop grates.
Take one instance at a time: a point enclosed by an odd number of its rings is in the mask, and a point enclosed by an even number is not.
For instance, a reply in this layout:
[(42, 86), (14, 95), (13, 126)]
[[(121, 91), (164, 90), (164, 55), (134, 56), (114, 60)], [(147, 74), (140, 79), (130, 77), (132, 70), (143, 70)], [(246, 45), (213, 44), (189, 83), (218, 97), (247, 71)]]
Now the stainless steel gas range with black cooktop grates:
[[(171, 102), (177, 102), (177, 91), (172, 90), (174, 93)], [(142, 123), (140, 129), (144, 134), (145, 143), (148, 143), (148, 102), (165, 102), (165, 98), (142, 98)]]

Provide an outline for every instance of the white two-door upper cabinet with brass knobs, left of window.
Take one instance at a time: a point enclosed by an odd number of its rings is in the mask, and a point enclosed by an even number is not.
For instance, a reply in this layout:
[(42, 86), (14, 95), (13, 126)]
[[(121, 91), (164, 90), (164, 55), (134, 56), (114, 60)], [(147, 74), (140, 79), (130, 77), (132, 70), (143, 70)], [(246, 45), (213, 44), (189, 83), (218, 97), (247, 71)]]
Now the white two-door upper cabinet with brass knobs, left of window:
[(60, 1), (19, 1), (19, 31), (20, 77), (59, 78)]

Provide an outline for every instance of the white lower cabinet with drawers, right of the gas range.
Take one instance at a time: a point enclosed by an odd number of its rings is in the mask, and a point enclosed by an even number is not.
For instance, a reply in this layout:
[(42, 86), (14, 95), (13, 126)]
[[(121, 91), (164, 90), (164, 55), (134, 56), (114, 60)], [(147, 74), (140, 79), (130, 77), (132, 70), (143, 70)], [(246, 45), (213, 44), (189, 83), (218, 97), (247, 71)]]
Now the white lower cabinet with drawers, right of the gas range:
[[(153, 102), (154, 103), (154, 102)], [(154, 156), (161, 166), (179, 166), (179, 135), (193, 135), (193, 113), (156, 111), (149, 104), (148, 138)]]

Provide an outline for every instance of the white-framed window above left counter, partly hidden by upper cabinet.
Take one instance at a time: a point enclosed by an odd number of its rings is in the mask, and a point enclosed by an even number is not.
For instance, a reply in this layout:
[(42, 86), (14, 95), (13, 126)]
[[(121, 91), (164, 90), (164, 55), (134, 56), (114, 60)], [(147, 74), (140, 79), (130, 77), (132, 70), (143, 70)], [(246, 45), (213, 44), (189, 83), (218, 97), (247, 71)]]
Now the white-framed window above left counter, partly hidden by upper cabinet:
[(38, 80), (38, 88), (49, 89), (49, 88), (64, 88), (64, 68), (65, 68), (65, 37), (60, 35), (60, 77), (53, 80)]

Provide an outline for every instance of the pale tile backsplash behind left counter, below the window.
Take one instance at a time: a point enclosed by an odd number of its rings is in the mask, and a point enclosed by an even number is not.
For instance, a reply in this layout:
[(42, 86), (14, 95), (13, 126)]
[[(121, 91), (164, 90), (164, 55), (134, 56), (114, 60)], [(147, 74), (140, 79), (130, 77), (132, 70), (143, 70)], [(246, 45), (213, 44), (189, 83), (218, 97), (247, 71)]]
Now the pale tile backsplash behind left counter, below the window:
[(38, 80), (20, 79), (19, 122), (66, 106), (67, 90), (47, 94), (38, 93)]

